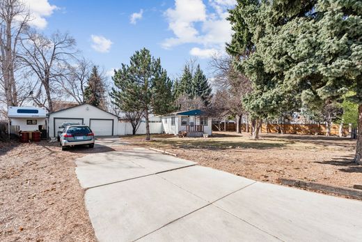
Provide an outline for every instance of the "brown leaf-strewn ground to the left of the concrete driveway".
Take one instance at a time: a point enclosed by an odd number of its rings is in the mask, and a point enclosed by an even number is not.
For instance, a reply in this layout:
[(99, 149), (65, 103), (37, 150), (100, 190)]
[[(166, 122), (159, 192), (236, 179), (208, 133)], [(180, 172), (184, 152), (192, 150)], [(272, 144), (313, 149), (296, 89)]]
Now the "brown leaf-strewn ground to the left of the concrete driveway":
[(2, 143), (0, 241), (95, 241), (74, 159), (111, 150)]

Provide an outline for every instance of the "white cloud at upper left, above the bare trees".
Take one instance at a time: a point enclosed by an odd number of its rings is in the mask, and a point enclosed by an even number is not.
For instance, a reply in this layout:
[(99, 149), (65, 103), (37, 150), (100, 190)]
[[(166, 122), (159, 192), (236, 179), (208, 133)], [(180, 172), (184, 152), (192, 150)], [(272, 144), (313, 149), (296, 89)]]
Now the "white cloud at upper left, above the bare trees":
[(45, 29), (47, 27), (47, 20), (57, 9), (55, 5), (50, 5), (48, 0), (22, 0), (28, 6), (30, 12), (29, 24), (38, 29)]

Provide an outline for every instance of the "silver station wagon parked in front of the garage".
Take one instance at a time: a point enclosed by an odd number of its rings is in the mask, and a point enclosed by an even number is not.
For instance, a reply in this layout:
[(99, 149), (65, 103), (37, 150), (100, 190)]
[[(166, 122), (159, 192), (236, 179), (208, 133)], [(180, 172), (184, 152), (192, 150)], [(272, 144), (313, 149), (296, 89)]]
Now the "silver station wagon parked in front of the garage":
[(69, 146), (85, 145), (89, 148), (94, 147), (94, 134), (88, 126), (84, 125), (70, 125), (66, 126), (63, 133), (59, 135), (61, 149), (64, 151)]

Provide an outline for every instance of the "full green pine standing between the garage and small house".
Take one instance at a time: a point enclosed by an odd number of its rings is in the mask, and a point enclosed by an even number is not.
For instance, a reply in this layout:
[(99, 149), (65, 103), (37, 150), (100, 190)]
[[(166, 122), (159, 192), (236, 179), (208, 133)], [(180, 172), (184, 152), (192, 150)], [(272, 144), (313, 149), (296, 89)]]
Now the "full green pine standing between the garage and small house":
[(161, 104), (168, 105), (171, 93), (170, 80), (160, 59), (155, 59), (145, 48), (136, 51), (129, 65), (123, 63), (116, 71), (113, 82), (118, 88), (112, 90), (113, 102), (125, 112), (143, 112), (146, 139), (150, 140), (149, 114), (166, 112), (167, 108)]

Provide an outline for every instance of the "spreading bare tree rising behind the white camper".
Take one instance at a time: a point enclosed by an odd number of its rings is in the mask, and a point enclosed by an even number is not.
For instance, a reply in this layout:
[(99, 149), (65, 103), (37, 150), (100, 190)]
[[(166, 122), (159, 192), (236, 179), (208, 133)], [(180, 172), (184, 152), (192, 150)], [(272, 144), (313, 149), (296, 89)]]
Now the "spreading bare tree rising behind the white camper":
[(52, 112), (53, 93), (57, 94), (60, 91), (56, 86), (57, 80), (65, 75), (70, 59), (75, 58), (74, 55), (77, 54), (74, 48), (75, 40), (68, 33), (56, 32), (47, 38), (36, 31), (29, 31), (27, 38), (22, 40), (22, 47), (24, 47), (22, 61), (40, 82), (40, 88), (34, 96), (40, 97), (44, 91), (47, 105), (37, 98), (34, 101)]

